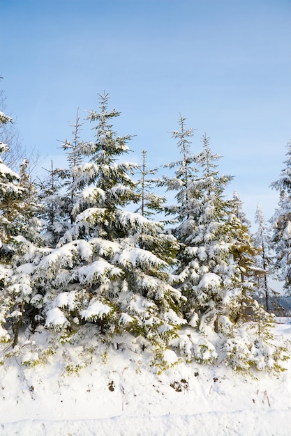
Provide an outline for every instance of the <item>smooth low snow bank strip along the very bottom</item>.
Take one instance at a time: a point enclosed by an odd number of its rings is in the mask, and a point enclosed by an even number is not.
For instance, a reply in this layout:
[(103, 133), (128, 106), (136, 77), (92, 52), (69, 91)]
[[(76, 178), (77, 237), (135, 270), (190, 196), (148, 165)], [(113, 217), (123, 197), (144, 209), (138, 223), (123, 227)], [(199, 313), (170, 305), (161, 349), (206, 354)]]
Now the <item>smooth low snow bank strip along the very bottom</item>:
[(22, 436), (289, 436), (291, 411), (195, 415), (114, 416), (77, 421), (19, 421), (0, 425), (0, 435)]

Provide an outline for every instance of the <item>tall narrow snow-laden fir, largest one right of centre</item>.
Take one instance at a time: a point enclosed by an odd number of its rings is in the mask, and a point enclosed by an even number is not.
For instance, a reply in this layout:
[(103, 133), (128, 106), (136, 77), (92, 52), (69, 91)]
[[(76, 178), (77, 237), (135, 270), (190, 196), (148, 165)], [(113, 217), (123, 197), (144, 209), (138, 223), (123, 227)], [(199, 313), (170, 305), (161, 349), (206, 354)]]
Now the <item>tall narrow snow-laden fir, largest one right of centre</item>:
[(220, 156), (211, 153), (206, 135), (202, 144), (203, 150), (196, 156), (201, 171), (188, 185), (191, 215), (186, 219), (191, 219), (193, 229), (183, 241), (185, 260), (180, 274), (185, 278), (181, 290), (188, 298), (188, 316), (198, 316), (200, 329), (206, 323), (218, 332), (225, 317), (237, 316), (237, 306), (232, 302), (240, 293), (237, 267), (231, 256), (233, 203), (223, 196), (232, 178), (218, 173), (216, 162)]

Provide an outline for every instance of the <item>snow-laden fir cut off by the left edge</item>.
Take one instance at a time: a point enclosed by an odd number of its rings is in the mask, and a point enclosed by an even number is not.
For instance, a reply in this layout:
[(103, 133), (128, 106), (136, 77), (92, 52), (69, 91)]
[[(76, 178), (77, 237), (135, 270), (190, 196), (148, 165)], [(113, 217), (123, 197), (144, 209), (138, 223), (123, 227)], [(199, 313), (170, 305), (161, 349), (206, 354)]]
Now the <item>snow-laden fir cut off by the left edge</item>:
[[(6, 146), (1, 146), (6, 148)], [(30, 274), (22, 270), (34, 251), (34, 243), (40, 245), (40, 221), (36, 217), (39, 208), (36, 187), (27, 174), (28, 162), (24, 159), (20, 176), (0, 162), (1, 168), (1, 341), (13, 340), (17, 345), (24, 318), (31, 317), (32, 290)], [(24, 260), (25, 259), (25, 260)], [(24, 313), (25, 312), (25, 313)], [(33, 316), (32, 316), (33, 318)]]

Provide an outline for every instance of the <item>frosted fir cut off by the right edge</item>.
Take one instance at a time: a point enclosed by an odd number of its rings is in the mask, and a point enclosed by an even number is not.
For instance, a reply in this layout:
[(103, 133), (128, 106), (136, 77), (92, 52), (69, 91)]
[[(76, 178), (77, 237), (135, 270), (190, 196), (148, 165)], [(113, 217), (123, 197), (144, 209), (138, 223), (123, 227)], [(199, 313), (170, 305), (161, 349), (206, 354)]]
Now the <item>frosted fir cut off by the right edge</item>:
[(281, 177), (271, 183), (271, 187), (280, 193), (278, 208), (271, 223), (276, 254), (276, 272), (278, 279), (284, 282), (285, 292), (291, 295), (291, 141), (287, 144), (287, 159)]

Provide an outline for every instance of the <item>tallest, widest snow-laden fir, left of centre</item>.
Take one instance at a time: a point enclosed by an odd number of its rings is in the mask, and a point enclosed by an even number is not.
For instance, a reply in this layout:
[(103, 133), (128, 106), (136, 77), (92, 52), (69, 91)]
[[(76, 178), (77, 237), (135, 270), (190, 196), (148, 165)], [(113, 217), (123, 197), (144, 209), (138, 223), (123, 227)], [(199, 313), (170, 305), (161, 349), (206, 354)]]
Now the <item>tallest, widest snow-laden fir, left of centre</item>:
[[(107, 110), (108, 100), (100, 95), (100, 111), (89, 112), (95, 139), (82, 143), (87, 162), (72, 167), (73, 222), (57, 247), (32, 260), (31, 287), (39, 290), (35, 300), (43, 323), (61, 341), (74, 341), (89, 326), (105, 342), (122, 343), (128, 332), (130, 341), (138, 337), (140, 346), (154, 345), (156, 364), (163, 365), (168, 339), (186, 322), (179, 312), (181, 293), (171, 284), (177, 242), (146, 212), (130, 212), (132, 203), (149, 197), (137, 192), (137, 164), (121, 162), (130, 136), (112, 130), (119, 112)], [(157, 205), (156, 198), (147, 209)]]

